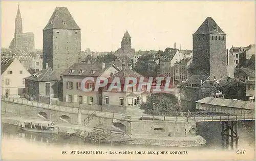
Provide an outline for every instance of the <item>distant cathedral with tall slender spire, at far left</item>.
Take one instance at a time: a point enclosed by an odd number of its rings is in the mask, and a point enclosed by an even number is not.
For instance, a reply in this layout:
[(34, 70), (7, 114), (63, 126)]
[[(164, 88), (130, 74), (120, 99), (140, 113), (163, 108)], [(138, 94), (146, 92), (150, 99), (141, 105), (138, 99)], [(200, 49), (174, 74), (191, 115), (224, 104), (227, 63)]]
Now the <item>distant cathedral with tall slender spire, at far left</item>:
[(34, 34), (32, 32), (23, 33), (22, 16), (20, 14), (19, 5), (15, 18), (14, 38), (11, 41), (10, 49), (26, 48), (29, 52), (34, 51)]

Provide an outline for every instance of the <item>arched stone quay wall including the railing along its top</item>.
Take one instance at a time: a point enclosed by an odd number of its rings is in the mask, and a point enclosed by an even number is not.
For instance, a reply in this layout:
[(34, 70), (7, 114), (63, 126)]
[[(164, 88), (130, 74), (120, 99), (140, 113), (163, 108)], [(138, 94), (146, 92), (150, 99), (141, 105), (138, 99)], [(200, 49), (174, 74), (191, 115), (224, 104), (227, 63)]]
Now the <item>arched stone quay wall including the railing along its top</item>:
[[(43, 118), (54, 122), (88, 127), (120, 129), (127, 134), (160, 135), (160, 136), (195, 136), (196, 122), (184, 117), (136, 116), (122, 113), (90, 111), (72, 107), (43, 104), (26, 99), (2, 99), (2, 112), (18, 116)], [(91, 119), (88, 119), (89, 116)]]

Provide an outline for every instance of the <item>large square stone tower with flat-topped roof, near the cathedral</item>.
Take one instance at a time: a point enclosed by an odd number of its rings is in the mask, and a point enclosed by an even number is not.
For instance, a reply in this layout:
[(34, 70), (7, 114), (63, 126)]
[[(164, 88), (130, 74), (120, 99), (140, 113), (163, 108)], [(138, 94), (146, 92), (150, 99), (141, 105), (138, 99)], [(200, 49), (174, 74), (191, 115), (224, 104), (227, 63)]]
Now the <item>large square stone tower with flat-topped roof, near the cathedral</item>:
[(46, 63), (59, 78), (81, 53), (81, 32), (68, 8), (56, 7), (43, 30), (43, 68)]

